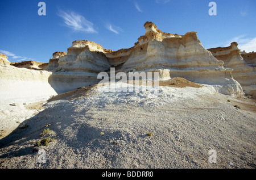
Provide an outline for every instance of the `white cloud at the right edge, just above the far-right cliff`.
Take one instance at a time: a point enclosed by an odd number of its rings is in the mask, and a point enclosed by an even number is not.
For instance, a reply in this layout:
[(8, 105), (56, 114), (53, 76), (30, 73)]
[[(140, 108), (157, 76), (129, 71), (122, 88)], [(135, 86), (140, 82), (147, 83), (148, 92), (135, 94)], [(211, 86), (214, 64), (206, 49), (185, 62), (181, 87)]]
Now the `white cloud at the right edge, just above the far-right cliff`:
[(229, 46), (232, 42), (237, 42), (238, 48), (241, 51), (256, 52), (256, 37), (246, 37), (246, 35), (237, 36), (230, 39), (229, 43), (226, 43), (225, 46)]

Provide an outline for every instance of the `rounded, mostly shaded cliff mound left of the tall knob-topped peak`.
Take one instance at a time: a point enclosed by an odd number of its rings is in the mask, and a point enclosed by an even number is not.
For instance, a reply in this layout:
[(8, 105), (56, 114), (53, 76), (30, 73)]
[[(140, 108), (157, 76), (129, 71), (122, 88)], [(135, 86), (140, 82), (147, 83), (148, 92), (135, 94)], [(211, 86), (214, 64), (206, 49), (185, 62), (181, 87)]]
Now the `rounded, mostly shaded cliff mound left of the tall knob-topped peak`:
[(49, 83), (57, 93), (65, 93), (98, 83), (98, 73), (110, 68), (100, 44), (86, 41), (73, 41), (68, 52), (55, 52), (47, 70), (53, 72)]

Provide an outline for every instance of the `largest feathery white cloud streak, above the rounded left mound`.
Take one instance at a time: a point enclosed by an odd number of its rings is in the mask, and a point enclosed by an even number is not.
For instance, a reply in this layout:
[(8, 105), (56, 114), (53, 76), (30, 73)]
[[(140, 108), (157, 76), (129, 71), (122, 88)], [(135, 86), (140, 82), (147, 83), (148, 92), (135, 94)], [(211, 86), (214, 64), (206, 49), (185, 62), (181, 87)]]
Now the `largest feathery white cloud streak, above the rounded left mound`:
[(93, 23), (89, 22), (89, 20), (85, 19), (84, 16), (77, 14), (76, 12), (71, 11), (67, 13), (59, 10), (57, 15), (63, 18), (64, 23), (75, 31), (97, 33), (97, 31), (94, 30)]

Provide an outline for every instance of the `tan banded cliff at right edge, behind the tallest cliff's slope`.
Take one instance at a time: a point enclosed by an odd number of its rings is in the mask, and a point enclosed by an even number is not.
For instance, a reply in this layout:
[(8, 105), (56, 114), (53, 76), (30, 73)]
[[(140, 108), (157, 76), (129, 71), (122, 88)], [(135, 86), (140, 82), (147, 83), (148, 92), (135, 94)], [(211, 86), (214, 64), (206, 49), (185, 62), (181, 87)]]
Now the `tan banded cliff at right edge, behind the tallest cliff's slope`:
[(256, 90), (256, 71), (255, 67), (253, 67), (254, 63), (251, 61), (253, 59), (253, 53), (251, 55), (243, 54), (244, 57), (247, 57), (247, 62), (251, 65), (249, 66), (243, 59), (236, 42), (231, 43), (229, 47), (218, 47), (208, 50), (212, 52), (213, 56), (218, 60), (224, 61), (223, 66), (233, 69), (232, 76), (241, 84), (243, 90), (247, 92)]

